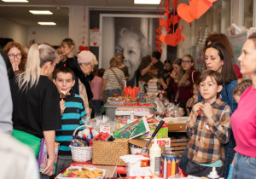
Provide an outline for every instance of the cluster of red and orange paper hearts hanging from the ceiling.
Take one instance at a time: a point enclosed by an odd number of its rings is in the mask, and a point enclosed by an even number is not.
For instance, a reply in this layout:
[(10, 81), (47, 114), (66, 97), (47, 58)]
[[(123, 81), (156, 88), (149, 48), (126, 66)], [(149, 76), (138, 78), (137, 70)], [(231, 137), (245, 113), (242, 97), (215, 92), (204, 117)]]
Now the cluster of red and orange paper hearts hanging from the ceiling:
[[(181, 29), (179, 28), (179, 22), (181, 19), (189, 22), (191, 26), (191, 22), (195, 19), (199, 19), (202, 14), (205, 14), (210, 7), (212, 7), (212, 3), (217, 0), (189, 0), (189, 5), (186, 3), (180, 3), (177, 6), (177, 0), (172, 0), (172, 9), (173, 14), (170, 12), (170, 0), (162, 0), (160, 8), (162, 8), (163, 2), (165, 1), (165, 13), (164, 18), (159, 18), (158, 21), (160, 26), (166, 29), (166, 34), (160, 35), (157, 37), (156, 42), (160, 41), (161, 43), (166, 43), (167, 45), (172, 45), (173, 47), (177, 46), (181, 40), (185, 41), (185, 37), (183, 36), (183, 25)], [(175, 14), (175, 9), (177, 8), (177, 14)], [(171, 15), (170, 15), (171, 14)], [(174, 30), (174, 26), (177, 24), (176, 30)], [(170, 33), (171, 28), (173, 26), (173, 31)], [(160, 31), (160, 26), (157, 27), (156, 30)], [(156, 44), (157, 46), (157, 44)]]

